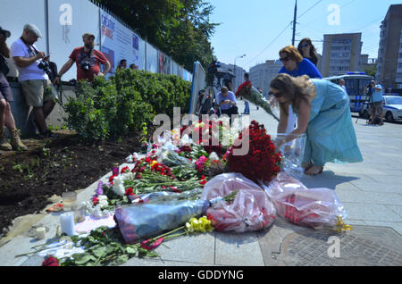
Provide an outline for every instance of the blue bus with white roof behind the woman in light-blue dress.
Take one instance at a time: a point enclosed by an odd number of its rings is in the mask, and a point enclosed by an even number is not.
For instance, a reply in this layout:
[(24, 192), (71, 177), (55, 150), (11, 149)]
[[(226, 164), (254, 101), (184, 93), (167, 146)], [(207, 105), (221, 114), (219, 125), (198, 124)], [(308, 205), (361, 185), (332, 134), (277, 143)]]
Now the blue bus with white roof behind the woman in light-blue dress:
[(373, 79), (372, 76), (366, 75), (364, 72), (348, 72), (345, 75), (332, 76), (322, 79), (331, 80), (331, 82), (339, 84), (340, 79), (345, 80), (345, 87), (348, 90), (350, 99), (350, 111), (360, 112), (363, 108), (366, 96), (363, 89)]

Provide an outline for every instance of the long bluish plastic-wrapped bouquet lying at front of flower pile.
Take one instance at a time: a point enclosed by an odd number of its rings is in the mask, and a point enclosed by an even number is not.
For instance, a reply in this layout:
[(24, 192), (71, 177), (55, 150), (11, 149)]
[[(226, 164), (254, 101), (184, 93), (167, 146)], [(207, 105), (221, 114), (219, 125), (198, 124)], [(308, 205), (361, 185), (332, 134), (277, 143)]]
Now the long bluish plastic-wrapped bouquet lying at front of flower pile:
[(140, 239), (156, 237), (166, 230), (174, 230), (192, 217), (206, 211), (205, 200), (172, 200), (163, 203), (152, 201), (147, 204), (117, 207), (114, 218), (127, 244)]

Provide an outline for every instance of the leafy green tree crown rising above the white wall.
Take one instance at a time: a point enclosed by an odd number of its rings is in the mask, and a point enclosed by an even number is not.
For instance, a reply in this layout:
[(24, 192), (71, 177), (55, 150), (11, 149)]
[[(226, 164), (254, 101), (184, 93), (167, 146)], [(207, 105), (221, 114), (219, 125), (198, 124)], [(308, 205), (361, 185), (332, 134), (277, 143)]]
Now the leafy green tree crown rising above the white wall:
[(213, 59), (209, 39), (219, 25), (209, 16), (212, 4), (204, 0), (95, 0), (104, 4), (163, 53), (192, 71), (199, 61), (206, 67)]

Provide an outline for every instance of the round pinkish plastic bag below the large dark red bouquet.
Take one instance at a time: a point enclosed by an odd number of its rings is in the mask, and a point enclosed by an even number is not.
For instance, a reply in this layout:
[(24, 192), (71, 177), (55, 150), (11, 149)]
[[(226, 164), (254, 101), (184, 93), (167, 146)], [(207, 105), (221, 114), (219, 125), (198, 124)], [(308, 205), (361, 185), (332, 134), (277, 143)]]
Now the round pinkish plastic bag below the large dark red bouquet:
[(264, 190), (239, 173), (223, 173), (205, 184), (202, 199), (213, 200), (239, 190), (232, 203), (219, 202), (206, 213), (215, 230), (254, 231), (267, 228), (275, 220), (275, 208)]

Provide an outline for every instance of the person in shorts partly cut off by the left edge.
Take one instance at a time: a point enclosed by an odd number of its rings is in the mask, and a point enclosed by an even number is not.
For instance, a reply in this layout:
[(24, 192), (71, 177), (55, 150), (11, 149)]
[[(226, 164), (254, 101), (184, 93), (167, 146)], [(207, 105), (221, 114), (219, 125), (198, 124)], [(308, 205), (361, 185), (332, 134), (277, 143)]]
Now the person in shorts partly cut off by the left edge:
[[(27, 146), (23, 145), (20, 138), (20, 131), (15, 126), (10, 102), (13, 102), (13, 93), (6, 76), (9, 70), (5, 58), (10, 58), (10, 49), (5, 42), (10, 38), (11, 33), (0, 27), (0, 150), (4, 151), (26, 151)], [(11, 136), (11, 143), (5, 137), (5, 127), (8, 128)]]

